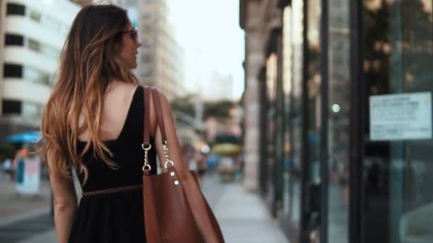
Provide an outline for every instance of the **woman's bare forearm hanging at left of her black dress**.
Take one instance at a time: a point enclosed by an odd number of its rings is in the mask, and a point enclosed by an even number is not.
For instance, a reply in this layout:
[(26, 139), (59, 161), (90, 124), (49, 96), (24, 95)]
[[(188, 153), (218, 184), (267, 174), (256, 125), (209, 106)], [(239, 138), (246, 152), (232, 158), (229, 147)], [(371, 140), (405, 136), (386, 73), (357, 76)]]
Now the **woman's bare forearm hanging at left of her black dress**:
[(51, 190), (53, 190), (54, 222), (56, 224), (57, 242), (67, 243), (73, 217), (77, 208), (77, 197), (73, 185), (73, 178), (58, 180), (50, 176)]

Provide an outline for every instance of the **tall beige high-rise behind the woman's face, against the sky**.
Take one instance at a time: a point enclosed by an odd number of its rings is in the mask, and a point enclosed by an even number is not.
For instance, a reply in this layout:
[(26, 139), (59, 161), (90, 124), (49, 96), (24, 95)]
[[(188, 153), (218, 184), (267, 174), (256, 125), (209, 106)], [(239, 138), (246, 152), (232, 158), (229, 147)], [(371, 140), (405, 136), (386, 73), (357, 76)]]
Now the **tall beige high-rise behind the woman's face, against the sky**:
[(172, 100), (182, 89), (184, 54), (174, 38), (167, 0), (128, 0), (126, 4), (142, 43), (137, 77), (143, 85), (157, 87)]

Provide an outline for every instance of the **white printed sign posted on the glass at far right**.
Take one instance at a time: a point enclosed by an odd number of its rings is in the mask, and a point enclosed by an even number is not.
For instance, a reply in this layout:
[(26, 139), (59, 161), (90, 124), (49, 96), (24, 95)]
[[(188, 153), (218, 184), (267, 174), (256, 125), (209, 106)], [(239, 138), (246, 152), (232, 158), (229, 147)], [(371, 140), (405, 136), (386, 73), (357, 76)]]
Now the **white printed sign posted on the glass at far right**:
[(432, 94), (371, 96), (370, 139), (432, 139)]

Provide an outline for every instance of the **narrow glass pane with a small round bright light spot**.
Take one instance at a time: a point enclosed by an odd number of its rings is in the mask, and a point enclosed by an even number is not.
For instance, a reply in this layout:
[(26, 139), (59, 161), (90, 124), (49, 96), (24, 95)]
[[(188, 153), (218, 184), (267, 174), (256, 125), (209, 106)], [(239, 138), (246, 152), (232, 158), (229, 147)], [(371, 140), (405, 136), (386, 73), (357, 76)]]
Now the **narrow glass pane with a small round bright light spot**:
[(328, 242), (347, 243), (349, 223), (349, 1), (329, 1)]

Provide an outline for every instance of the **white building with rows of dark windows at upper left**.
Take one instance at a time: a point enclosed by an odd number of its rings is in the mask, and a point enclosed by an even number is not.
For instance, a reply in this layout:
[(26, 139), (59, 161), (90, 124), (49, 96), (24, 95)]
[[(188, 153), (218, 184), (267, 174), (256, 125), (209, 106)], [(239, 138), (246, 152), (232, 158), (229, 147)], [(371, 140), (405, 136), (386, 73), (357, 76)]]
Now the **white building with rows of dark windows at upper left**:
[(0, 0), (0, 136), (38, 129), (69, 28), (67, 0)]

